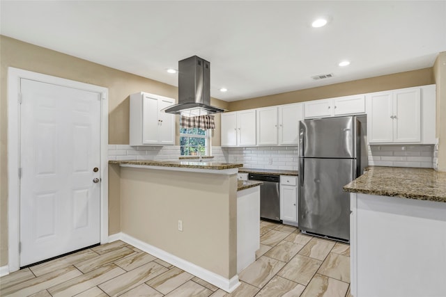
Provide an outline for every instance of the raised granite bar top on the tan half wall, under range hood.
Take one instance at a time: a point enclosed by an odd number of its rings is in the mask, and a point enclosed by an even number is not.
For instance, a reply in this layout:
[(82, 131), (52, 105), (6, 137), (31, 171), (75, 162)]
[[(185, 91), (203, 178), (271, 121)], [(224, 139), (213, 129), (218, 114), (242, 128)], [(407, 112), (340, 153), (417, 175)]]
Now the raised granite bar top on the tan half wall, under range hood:
[(219, 163), (219, 162), (192, 162), (192, 161), (153, 161), (153, 160), (110, 160), (110, 164), (128, 164), (139, 166), (162, 166), (178, 168), (198, 168), (224, 170), (242, 167), (243, 164)]

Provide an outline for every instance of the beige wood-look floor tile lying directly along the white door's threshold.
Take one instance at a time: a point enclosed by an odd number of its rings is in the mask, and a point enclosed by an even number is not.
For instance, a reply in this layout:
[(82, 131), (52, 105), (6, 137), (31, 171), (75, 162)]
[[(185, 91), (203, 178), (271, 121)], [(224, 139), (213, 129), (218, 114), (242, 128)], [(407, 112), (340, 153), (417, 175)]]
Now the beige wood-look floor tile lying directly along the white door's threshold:
[(93, 250), (91, 249), (81, 250), (71, 255), (66, 255), (64, 257), (54, 259), (49, 262), (31, 266), (30, 269), (31, 271), (33, 271), (35, 275), (40, 276), (44, 275), (45, 273), (49, 273), (51, 271), (55, 271), (57, 269), (67, 267), (72, 264), (83, 262), (89, 259), (93, 259), (94, 257), (98, 256), (99, 254), (97, 252), (93, 252)]

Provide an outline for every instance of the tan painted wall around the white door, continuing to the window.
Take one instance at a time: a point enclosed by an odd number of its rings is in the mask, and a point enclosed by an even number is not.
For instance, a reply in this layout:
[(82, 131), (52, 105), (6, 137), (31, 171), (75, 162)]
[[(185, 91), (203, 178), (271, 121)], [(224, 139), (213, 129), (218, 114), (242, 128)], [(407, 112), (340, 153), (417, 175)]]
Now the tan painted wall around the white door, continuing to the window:
[[(0, 266), (8, 263), (8, 216), (7, 216), (7, 77), (8, 67), (49, 74), (73, 81), (91, 83), (109, 88), (109, 143), (129, 143), (129, 95), (139, 91), (178, 98), (178, 88), (134, 74), (105, 67), (96, 63), (37, 47), (0, 35)], [(211, 99), (211, 104), (227, 109), (228, 103)], [(178, 120), (177, 120), (178, 122)], [(213, 145), (220, 145), (220, 116), (216, 117), (217, 129)], [(178, 145), (179, 134), (177, 125)], [(111, 201), (112, 205), (114, 204)], [(118, 201), (117, 201), (118, 202)], [(114, 217), (111, 217), (113, 220)], [(115, 225), (115, 222), (111, 222)]]

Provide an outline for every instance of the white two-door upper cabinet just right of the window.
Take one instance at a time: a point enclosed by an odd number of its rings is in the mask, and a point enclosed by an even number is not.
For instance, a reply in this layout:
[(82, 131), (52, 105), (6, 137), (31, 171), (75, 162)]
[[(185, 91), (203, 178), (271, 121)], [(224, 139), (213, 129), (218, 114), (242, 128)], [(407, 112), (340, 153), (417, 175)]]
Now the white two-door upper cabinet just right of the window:
[(256, 145), (256, 110), (221, 114), (222, 147)]

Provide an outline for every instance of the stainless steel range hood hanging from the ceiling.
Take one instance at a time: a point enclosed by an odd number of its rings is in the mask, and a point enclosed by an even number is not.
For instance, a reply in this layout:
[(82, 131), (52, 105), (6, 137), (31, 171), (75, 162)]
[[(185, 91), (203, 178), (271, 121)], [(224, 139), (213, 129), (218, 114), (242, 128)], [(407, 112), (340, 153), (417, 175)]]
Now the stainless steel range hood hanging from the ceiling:
[(164, 109), (166, 113), (208, 115), (224, 109), (210, 106), (210, 63), (198, 56), (178, 62), (178, 104)]

